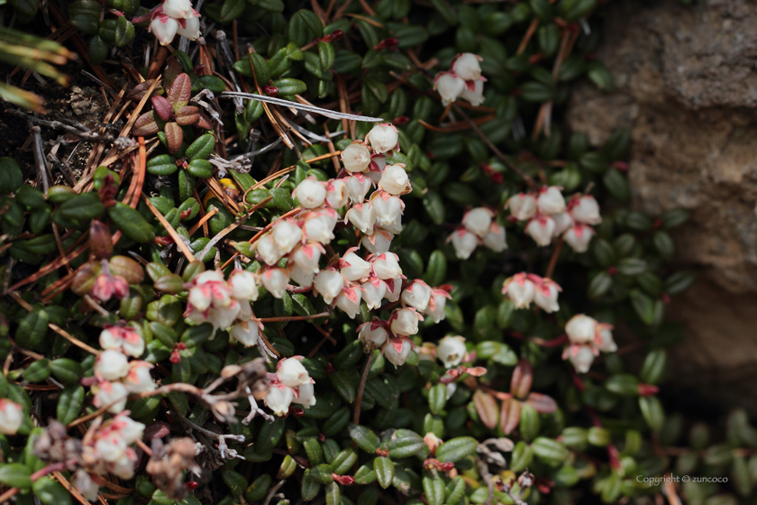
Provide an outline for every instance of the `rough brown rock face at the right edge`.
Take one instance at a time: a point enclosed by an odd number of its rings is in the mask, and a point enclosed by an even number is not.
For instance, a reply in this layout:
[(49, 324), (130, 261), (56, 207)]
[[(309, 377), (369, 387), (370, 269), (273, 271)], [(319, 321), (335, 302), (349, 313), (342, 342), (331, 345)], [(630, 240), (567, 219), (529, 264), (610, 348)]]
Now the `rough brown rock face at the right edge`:
[(676, 243), (699, 280), (670, 307), (687, 326), (670, 377), (757, 414), (757, 3), (640, 4), (598, 14), (616, 90), (579, 86), (569, 122), (595, 144), (630, 128), (634, 206), (691, 212)]

